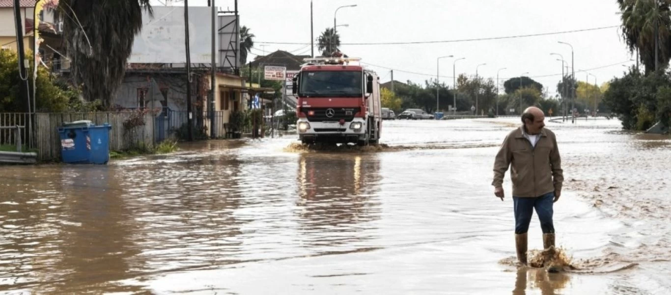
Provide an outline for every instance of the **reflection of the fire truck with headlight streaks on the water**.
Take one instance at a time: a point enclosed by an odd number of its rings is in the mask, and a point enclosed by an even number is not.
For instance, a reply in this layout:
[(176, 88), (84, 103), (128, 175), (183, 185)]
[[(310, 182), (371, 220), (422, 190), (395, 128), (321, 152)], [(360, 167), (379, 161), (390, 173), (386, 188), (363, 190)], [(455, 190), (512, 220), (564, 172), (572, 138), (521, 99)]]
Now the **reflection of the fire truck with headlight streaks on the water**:
[(375, 155), (299, 157), (296, 210), (305, 247), (372, 239), (366, 231), (373, 229), (370, 222), (380, 218), (379, 171), (380, 160)]

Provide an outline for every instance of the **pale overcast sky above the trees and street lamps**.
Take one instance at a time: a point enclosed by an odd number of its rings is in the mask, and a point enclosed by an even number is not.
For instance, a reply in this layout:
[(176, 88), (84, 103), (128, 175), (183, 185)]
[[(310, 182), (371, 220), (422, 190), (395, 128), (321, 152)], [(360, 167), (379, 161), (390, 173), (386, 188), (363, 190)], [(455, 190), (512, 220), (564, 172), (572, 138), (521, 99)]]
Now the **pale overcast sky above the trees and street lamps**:
[[(233, 10), (234, 0), (215, 0), (223, 10)], [(250, 28), (254, 48), (250, 52), (286, 50), (294, 54), (310, 54), (310, 0), (239, 0), (240, 25)], [(338, 10), (338, 34), (341, 50), (351, 57), (360, 57), (370, 69), (378, 73), (383, 82), (391, 80), (413, 81), (423, 84), (435, 79), (440, 71), (440, 81), (453, 82), (453, 65), (456, 58), (456, 75), (464, 73), (496, 81), (503, 91), (503, 82), (522, 73), (532, 77), (556, 94), (556, 84), (561, 80), (562, 54), (570, 67), (571, 44), (574, 49), (576, 79), (589, 83), (602, 83), (621, 77), (625, 66), (635, 65), (621, 36), (619, 9), (615, 0), (313, 0), (314, 38), (326, 28), (333, 27), (335, 10)], [(161, 5), (153, 0), (155, 5)], [(173, 2), (174, 3), (174, 2)], [(173, 5), (183, 5), (183, 0)], [(191, 6), (207, 6), (207, 0), (191, 0)], [(589, 30), (595, 28), (601, 30)], [(551, 34), (567, 31), (563, 34)], [(521, 38), (473, 40), (545, 34)], [(451, 42), (435, 42), (451, 41)], [(277, 44), (281, 42), (297, 44)], [(433, 42), (423, 44), (370, 44), (380, 42)], [(368, 44), (357, 44), (368, 43)], [(315, 44), (315, 55), (319, 55)], [(453, 55), (454, 58), (439, 56)], [(486, 64), (481, 65), (480, 64)], [(499, 71), (499, 69), (504, 70)], [(591, 75), (586, 75), (586, 70)]]

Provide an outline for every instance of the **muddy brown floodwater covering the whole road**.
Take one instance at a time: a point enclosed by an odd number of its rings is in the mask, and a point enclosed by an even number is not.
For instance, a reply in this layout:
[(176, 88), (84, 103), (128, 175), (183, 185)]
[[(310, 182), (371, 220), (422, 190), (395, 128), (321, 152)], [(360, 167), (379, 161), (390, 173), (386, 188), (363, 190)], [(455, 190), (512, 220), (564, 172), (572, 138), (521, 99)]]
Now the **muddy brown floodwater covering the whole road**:
[(505, 202), (490, 183), (517, 122), (385, 122), (388, 147), (369, 152), (287, 149), (286, 136), (0, 167), (0, 293), (671, 292), (671, 138), (617, 120), (547, 123), (566, 179), (557, 244), (580, 273), (505, 263), (511, 183)]

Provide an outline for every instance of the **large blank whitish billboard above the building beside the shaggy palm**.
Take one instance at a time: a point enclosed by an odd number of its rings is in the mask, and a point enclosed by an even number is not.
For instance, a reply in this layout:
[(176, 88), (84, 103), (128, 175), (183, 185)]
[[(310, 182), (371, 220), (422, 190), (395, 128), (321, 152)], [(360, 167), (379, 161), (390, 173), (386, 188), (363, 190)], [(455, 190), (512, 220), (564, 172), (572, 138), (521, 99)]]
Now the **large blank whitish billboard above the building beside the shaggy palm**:
[[(154, 17), (142, 11), (142, 30), (135, 36), (128, 62), (185, 63), (184, 7), (154, 6)], [(189, 49), (191, 63), (212, 61), (211, 7), (189, 6)], [(215, 54), (215, 58), (219, 54)]]

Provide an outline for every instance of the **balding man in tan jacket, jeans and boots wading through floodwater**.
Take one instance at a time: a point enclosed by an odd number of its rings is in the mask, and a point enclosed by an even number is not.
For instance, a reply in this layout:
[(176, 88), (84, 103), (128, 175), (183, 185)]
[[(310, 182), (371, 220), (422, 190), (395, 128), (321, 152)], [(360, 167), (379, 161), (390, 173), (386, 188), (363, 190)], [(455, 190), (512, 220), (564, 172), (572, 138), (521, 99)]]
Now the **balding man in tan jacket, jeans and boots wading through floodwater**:
[(503, 198), (503, 177), (508, 167), (513, 181), (515, 247), (521, 265), (527, 264), (527, 231), (536, 210), (543, 230), (543, 247), (554, 250), (552, 204), (562, 195), (562, 159), (554, 133), (545, 128), (539, 108), (527, 108), (522, 125), (511, 131), (494, 162), (494, 194)]

